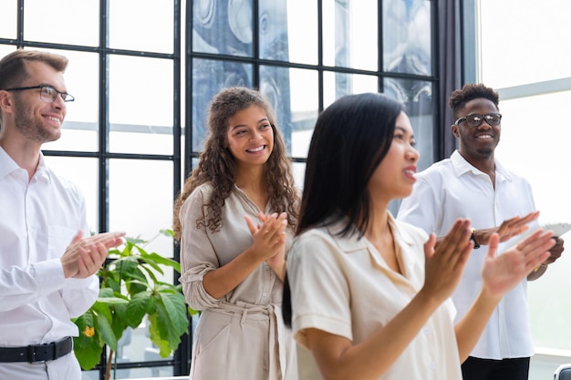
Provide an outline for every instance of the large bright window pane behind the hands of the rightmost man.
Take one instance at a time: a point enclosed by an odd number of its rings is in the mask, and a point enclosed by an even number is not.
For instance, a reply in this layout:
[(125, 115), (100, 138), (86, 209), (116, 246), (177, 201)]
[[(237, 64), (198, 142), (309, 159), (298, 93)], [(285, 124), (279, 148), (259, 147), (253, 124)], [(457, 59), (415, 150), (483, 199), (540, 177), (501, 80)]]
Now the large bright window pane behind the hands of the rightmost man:
[[(543, 112), (541, 123), (537, 123), (530, 120), (526, 110), (566, 109), (570, 103), (571, 91), (500, 101), (504, 118), (495, 157), (530, 181), (536, 209), (541, 211), (539, 219), (543, 222), (570, 221), (568, 176), (565, 169), (562, 176), (561, 165), (565, 167), (571, 162), (571, 130), (562, 125), (560, 113)], [(540, 126), (551, 126), (552, 133), (537, 133)], [(532, 150), (534, 153), (530, 154)], [(567, 246), (571, 234), (567, 232), (563, 239)], [(571, 304), (566, 291), (571, 289), (568, 249), (566, 247), (561, 258), (549, 265), (540, 280), (530, 282), (527, 287), (534, 343), (541, 351), (551, 354), (557, 350), (571, 352)]]

